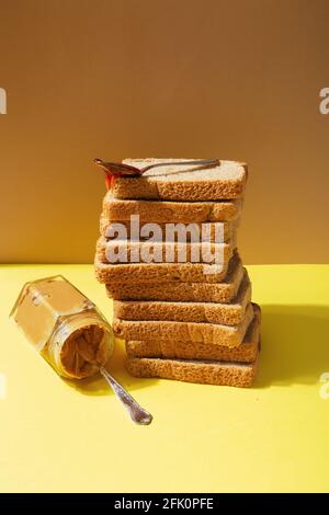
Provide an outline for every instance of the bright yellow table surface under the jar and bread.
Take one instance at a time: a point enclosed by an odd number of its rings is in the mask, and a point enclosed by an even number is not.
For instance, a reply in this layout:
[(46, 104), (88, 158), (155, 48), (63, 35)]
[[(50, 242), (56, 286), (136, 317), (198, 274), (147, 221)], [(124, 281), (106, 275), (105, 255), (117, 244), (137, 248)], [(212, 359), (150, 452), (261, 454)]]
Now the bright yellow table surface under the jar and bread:
[(263, 311), (254, 387), (133, 378), (117, 342), (109, 369), (154, 414), (136, 426), (103, 379), (60, 379), (8, 318), (23, 283), (57, 273), (111, 318), (93, 267), (1, 266), (0, 490), (329, 491), (329, 265), (248, 271)]

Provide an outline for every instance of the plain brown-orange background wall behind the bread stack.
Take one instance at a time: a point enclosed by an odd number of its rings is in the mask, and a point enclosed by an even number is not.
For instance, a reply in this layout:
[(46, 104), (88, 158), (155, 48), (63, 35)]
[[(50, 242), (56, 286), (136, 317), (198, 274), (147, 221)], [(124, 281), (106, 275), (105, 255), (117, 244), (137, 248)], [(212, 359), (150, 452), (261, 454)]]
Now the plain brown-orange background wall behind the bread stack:
[(0, 260), (90, 262), (93, 157), (249, 163), (247, 263), (329, 262), (328, 0), (0, 0)]

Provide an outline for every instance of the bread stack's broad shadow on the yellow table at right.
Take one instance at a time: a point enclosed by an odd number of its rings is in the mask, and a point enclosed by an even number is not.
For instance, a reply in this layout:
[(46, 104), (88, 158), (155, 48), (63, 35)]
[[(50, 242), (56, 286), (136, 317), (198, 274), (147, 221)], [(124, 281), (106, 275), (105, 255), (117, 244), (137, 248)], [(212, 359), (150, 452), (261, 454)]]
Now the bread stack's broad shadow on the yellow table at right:
[(329, 307), (262, 306), (261, 337), (254, 388), (316, 384), (329, 371)]

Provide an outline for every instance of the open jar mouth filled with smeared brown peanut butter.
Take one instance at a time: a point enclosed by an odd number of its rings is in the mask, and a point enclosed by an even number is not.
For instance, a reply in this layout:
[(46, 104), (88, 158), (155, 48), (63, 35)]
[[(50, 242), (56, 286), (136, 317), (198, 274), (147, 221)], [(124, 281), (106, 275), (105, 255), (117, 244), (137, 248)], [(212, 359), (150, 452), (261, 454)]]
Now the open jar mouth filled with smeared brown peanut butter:
[(103, 328), (95, 324), (73, 331), (60, 350), (60, 363), (65, 371), (82, 379), (105, 365), (109, 348), (103, 336)]

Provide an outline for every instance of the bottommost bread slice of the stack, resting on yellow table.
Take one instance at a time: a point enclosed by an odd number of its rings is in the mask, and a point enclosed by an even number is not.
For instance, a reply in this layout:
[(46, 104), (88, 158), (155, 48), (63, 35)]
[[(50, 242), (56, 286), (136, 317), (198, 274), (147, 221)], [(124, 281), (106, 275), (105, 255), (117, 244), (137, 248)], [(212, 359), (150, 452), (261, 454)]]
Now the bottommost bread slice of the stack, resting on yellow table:
[(248, 388), (254, 381), (258, 360), (258, 357), (252, 363), (127, 357), (126, 368), (135, 377)]

